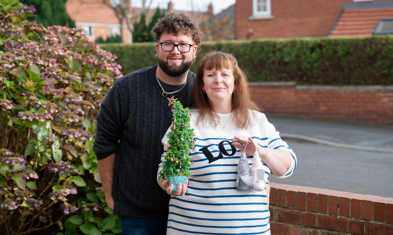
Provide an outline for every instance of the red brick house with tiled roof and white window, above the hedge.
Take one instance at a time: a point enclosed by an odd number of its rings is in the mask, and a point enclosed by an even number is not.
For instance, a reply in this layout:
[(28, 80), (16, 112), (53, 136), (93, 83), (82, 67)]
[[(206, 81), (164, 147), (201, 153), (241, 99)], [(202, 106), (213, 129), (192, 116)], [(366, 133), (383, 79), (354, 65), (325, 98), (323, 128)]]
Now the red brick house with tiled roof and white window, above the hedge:
[(236, 0), (236, 39), (393, 33), (393, 1)]

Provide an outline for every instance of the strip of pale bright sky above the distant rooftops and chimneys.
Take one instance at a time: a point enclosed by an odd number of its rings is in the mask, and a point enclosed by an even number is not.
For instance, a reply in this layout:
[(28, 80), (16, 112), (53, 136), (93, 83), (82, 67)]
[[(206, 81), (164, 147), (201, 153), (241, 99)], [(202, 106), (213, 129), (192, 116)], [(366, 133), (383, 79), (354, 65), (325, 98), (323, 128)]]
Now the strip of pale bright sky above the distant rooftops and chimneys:
[[(168, 2), (170, 0), (146, 0), (146, 2), (152, 1), (150, 8), (160, 7), (161, 9), (168, 8)], [(228, 8), (234, 4), (236, 0), (171, 0), (173, 3), (174, 10), (177, 11), (202, 11), (205, 12), (208, 9), (210, 3), (213, 4), (214, 14), (220, 13), (222, 10)], [(142, 0), (131, 0), (133, 7), (141, 7)], [(192, 6), (194, 9), (192, 9)]]

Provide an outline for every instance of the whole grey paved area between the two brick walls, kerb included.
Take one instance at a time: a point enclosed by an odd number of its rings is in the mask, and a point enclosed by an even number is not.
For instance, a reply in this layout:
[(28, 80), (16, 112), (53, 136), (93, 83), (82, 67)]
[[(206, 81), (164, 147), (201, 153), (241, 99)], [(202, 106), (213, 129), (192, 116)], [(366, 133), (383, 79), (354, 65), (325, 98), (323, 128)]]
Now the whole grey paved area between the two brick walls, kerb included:
[(393, 198), (393, 126), (267, 117), (298, 157), (272, 182)]

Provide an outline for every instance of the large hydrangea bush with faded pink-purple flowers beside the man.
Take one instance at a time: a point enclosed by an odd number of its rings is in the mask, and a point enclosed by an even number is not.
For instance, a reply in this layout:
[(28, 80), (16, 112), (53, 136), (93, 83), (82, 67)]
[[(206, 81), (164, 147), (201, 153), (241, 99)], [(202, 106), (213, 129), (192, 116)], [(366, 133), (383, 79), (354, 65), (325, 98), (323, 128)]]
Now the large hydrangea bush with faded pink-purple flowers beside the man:
[(0, 0), (0, 234), (114, 234), (92, 150), (120, 65), (83, 32)]

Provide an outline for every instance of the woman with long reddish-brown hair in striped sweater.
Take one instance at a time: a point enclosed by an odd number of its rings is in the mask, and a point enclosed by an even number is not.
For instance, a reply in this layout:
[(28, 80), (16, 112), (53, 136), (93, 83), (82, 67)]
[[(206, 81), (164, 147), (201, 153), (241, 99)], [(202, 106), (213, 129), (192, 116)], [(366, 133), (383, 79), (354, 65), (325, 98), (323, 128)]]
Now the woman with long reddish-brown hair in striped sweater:
[[(202, 56), (193, 99), (191, 184), (172, 191), (172, 184), (160, 183), (172, 195), (167, 234), (270, 234), (267, 178), (290, 176), (296, 155), (250, 99), (246, 75), (233, 55)], [(166, 149), (166, 136), (162, 143)], [(250, 171), (257, 163), (262, 174)], [(253, 185), (257, 180), (262, 188)]]

